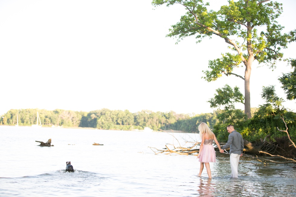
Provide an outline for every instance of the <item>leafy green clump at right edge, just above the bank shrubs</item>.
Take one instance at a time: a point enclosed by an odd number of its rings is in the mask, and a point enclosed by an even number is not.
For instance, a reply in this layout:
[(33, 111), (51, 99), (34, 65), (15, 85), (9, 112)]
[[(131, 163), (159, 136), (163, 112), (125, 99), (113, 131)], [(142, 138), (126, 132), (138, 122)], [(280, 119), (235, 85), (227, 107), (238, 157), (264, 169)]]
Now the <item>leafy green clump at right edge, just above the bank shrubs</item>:
[(282, 77), (278, 79), (282, 83), (288, 100), (296, 99), (296, 59), (291, 60), (291, 66), (294, 67), (294, 71), (283, 73)]

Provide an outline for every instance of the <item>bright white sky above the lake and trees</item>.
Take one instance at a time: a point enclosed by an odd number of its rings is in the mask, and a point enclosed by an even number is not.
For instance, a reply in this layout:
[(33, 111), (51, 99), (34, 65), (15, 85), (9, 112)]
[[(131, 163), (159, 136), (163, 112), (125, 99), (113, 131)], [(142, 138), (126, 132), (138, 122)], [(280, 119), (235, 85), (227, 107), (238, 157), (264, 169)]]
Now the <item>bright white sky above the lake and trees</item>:
[[(217, 88), (229, 84), (244, 92), (235, 76), (201, 78), (208, 61), (227, 51), (224, 40), (196, 44), (188, 37), (175, 44), (166, 34), (185, 9), (154, 8), (151, 1), (0, 0), (0, 115), (27, 108), (211, 113), (207, 101)], [(218, 10), (227, 1), (208, 2)], [(284, 8), (279, 23), (285, 32), (295, 29), (296, 1), (278, 2)], [(295, 58), (295, 49), (289, 44), (284, 58)], [(275, 85), (286, 98), (278, 77), (289, 71), (287, 62), (277, 62), (273, 71), (255, 62), (251, 107), (264, 103), (262, 86)], [(284, 106), (296, 112), (295, 101)]]

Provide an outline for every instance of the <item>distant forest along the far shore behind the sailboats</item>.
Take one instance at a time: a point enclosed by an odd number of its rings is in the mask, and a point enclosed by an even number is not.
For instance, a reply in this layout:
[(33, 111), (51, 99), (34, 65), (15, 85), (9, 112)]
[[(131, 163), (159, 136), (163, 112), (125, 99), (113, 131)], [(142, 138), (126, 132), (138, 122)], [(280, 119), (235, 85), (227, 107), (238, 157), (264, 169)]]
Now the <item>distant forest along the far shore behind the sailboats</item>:
[(211, 128), (217, 122), (217, 111), (202, 114), (177, 114), (170, 112), (152, 112), (142, 110), (131, 113), (128, 110), (101, 109), (91, 112), (71, 110), (21, 109), (9, 110), (0, 118), (0, 125), (31, 126), (37, 122), (37, 111), (43, 126), (88, 127), (107, 130), (175, 130), (198, 132), (198, 125), (206, 122)]

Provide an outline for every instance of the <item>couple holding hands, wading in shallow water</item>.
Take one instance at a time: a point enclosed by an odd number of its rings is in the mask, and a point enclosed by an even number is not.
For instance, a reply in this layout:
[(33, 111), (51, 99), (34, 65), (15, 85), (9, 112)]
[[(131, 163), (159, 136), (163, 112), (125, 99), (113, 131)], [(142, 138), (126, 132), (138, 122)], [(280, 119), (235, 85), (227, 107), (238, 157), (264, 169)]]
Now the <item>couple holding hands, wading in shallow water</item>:
[(228, 141), (226, 145), (223, 147), (220, 147), (215, 134), (211, 131), (211, 129), (208, 127), (208, 125), (204, 122), (202, 122), (198, 126), (199, 130), (199, 135), (201, 138), (201, 145), (199, 148), (199, 153), (198, 153), (198, 161), (201, 163), (201, 167), (199, 170), (198, 176), (201, 176), (202, 170), (204, 169), (204, 165), (207, 168), (207, 173), (209, 178), (211, 179), (211, 169), (210, 169), (210, 164), (209, 162), (216, 162), (216, 154), (215, 150), (213, 147), (213, 142), (215, 141), (220, 153), (224, 152), (224, 149), (230, 147), (230, 166), (231, 166), (231, 177), (233, 178), (238, 178), (238, 163), (240, 160), (240, 156), (243, 155), (243, 137), (242, 135), (234, 130), (233, 125), (228, 125), (227, 126), (227, 132), (230, 133), (228, 136)]

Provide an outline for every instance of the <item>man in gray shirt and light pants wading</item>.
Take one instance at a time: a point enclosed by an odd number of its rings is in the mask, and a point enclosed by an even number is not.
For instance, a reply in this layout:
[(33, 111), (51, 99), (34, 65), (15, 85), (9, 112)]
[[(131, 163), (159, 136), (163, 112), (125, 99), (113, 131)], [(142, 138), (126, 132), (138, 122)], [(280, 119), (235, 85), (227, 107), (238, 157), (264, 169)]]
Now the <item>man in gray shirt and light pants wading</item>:
[(228, 141), (226, 145), (221, 147), (221, 153), (224, 152), (223, 149), (230, 147), (230, 166), (231, 166), (231, 177), (238, 178), (237, 168), (240, 156), (243, 155), (243, 137), (242, 135), (234, 130), (233, 125), (227, 126), (227, 132), (230, 133), (228, 136)]

